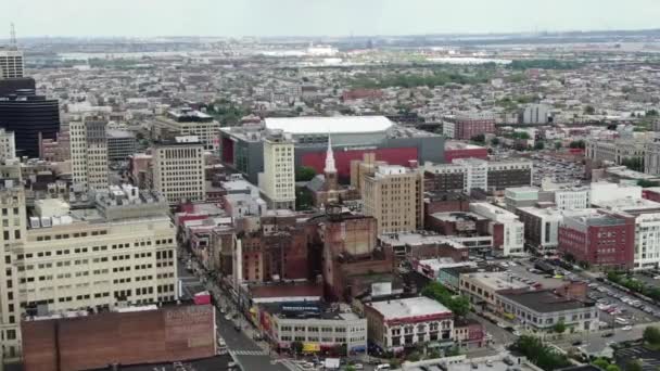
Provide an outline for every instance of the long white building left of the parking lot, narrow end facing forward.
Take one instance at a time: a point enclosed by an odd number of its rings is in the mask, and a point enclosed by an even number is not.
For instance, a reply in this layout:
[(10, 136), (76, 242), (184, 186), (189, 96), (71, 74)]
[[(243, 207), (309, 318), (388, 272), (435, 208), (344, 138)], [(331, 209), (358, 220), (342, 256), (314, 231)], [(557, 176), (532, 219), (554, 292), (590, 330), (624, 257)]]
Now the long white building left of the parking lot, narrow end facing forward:
[(488, 232), (492, 235), (497, 233), (497, 223), (504, 226), (503, 244), (498, 246), (504, 256), (523, 253), (524, 225), (516, 214), (485, 202), (470, 204), (470, 212), (494, 221), (488, 226)]

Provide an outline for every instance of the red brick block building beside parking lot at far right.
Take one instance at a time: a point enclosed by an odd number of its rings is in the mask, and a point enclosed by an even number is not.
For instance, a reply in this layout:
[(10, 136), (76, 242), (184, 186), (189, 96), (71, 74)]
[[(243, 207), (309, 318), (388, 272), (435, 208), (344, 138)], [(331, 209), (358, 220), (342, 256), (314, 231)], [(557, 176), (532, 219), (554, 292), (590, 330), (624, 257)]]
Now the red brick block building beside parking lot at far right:
[(598, 267), (632, 268), (635, 219), (622, 214), (584, 209), (566, 212), (559, 226), (558, 250), (578, 261)]

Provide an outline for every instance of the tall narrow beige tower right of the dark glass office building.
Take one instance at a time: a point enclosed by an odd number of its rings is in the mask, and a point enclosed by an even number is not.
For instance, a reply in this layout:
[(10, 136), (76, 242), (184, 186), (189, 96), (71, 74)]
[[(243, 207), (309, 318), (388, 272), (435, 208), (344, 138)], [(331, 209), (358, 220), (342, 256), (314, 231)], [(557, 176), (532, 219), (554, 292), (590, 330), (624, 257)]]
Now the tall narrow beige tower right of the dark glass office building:
[(92, 191), (107, 188), (106, 125), (105, 117), (94, 115), (79, 116), (69, 123), (74, 187)]

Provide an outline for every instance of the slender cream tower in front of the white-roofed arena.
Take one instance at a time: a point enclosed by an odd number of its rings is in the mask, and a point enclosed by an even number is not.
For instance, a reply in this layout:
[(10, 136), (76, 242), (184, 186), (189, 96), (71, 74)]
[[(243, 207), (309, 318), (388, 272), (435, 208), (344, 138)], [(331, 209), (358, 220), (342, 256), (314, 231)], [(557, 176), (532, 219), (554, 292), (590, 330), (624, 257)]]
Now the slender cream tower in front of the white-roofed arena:
[(264, 172), (259, 189), (270, 208), (295, 208), (295, 164), (293, 141), (281, 130), (264, 139)]

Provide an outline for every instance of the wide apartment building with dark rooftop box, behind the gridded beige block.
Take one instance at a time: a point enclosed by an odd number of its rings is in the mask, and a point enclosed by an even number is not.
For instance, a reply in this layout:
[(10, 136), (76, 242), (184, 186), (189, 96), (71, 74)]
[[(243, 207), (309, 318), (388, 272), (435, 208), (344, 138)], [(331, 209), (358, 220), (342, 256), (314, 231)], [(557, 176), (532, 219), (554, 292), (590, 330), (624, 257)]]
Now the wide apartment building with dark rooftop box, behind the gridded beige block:
[(174, 137), (198, 137), (205, 151), (219, 149), (220, 124), (212, 116), (188, 107), (169, 110), (151, 123), (152, 137), (172, 140)]

